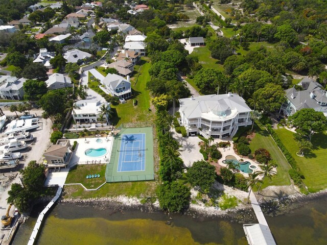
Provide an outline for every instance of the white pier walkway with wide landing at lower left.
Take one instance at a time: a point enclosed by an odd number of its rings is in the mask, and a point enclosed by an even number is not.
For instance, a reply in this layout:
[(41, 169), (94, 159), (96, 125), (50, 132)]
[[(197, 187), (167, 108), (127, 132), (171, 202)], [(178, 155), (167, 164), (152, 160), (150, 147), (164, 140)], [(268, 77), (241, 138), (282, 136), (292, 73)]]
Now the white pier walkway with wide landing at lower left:
[(60, 172), (53, 172), (48, 175), (48, 178), (46, 178), (44, 185), (45, 186), (59, 186), (57, 193), (55, 197), (50, 201), (48, 205), (42, 210), (42, 212), (39, 214), (36, 220), (36, 224), (34, 226), (33, 232), (30, 236), (30, 239), (28, 241), (28, 245), (33, 245), (36, 241), (37, 233), (40, 230), (42, 220), (45, 217), (45, 214), (52, 208), (52, 206), (56, 203), (56, 201), (59, 199), (63, 185), (65, 184), (67, 175), (68, 175), (69, 168), (61, 169)]

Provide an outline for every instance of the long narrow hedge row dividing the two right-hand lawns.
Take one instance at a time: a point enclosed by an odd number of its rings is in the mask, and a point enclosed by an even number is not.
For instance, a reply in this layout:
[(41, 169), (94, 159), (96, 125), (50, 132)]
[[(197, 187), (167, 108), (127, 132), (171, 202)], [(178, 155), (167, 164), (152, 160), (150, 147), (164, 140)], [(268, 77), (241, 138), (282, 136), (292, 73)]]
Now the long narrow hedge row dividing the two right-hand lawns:
[(279, 139), (277, 133), (271, 128), (271, 125), (269, 125), (269, 124), (266, 125), (266, 128), (267, 128), (267, 131), (269, 132), (269, 134), (271, 135), (271, 137), (275, 140), (279, 149), (281, 149), (281, 151), (283, 152), (288, 163), (291, 165), (292, 168), (289, 170), (289, 175), (292, 178), (292, 180), (294, 181), (294, 184), (297, 186), (301, 186), (303, 184), (301, 179), (304, 179), (305, 177), (302, 175), (301, 170), (299, 169), (294, 157), (286, 149), (286, 147), (283, 144), (283, 142), (281, 141), (281, 139)]

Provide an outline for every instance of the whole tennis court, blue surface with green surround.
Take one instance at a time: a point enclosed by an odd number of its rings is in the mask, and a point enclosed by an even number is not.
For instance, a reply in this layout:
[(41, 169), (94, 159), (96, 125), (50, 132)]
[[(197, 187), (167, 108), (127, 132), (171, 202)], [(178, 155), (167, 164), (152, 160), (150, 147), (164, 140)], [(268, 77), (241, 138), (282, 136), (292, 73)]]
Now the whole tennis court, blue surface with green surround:
[(113, 140), (107, 182), (154, 180), (153, 129), (122, 129)]

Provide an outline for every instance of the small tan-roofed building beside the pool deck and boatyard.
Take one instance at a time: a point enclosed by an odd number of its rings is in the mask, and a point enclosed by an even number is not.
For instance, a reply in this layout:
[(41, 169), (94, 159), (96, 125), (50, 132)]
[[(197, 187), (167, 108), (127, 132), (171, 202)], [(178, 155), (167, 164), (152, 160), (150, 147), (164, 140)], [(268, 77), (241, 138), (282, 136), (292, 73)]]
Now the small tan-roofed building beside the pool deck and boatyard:
[(69, 139), (58, 139), (57, 143), (51, 145), (48, 150), (43, 153), (45, 160), (43, 163), (46, 168), (66, 167), (72, 157), (71, 144)]

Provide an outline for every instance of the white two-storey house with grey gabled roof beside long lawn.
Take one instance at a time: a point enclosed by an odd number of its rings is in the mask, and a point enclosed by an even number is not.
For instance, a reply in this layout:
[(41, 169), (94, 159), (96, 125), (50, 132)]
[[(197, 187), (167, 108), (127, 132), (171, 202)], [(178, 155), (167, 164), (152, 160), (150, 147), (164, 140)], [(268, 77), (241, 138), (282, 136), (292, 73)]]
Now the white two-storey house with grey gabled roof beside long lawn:
[(132, 96), (131, 83), (129, 81), (129, 76), (127, 79), (116, 75), (108, 74), (104, 80), (101, 81), (104, 87), (100, 86), (107, 94), (119, 97), (119, 99), (128, 99)]

